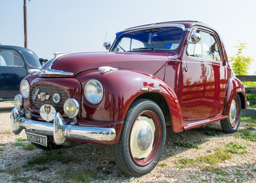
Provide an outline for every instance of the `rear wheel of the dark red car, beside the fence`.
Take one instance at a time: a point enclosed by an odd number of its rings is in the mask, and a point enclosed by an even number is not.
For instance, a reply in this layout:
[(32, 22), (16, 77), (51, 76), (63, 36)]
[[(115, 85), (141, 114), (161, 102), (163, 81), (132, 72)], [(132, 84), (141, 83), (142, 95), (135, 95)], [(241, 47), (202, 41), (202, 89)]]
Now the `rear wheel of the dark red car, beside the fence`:
[(228, 119), (220, 121), (221, 128), (226, 133), (234, 133), (240, 124), (241, 100), (238, 94), (231, 101)]

